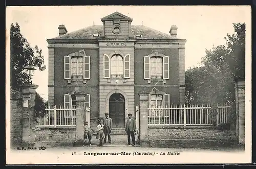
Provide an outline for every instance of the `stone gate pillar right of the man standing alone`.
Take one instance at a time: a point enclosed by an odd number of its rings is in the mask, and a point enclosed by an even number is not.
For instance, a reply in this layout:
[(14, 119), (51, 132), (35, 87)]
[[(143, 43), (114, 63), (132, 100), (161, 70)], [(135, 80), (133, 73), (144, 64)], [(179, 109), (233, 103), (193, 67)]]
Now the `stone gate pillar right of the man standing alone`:
[(140, 147), (149, 147), (148, 142), (148, 127), (147, 127), (147, 97), (148, 93), (139, 92), (140, 104), (139, 104), (139, 118), (140, 118)]

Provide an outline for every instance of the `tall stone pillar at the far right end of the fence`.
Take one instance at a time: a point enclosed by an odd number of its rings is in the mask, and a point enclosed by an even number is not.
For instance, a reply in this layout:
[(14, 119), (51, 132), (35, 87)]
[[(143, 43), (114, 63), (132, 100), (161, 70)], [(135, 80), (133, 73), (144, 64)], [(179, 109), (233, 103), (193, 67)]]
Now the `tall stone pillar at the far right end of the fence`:
[(245, 143), (245, 81), (244, 79), (236, 79), (236, 114), (237, 139), (240, 144)]

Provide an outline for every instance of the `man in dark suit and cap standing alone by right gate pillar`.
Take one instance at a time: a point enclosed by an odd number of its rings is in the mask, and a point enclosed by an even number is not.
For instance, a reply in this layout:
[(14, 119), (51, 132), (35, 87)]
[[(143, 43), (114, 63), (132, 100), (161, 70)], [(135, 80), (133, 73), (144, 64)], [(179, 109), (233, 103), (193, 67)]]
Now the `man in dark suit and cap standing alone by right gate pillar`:
[(131, 145), (130, 136), (132, 136), (133, 146), (135, 146), (134, 133), (136, 131), (136, 123), (135, 123), (135, 119), (132, 118), (131, 113), (128, 114), (128, 117), (129, 117), (129, 119), (127, 119), (126, 124), (125, 124), (125, 131), (127, 133), (127, 139), (128, 139), (128, 144), (126, 144), (126, 146)]

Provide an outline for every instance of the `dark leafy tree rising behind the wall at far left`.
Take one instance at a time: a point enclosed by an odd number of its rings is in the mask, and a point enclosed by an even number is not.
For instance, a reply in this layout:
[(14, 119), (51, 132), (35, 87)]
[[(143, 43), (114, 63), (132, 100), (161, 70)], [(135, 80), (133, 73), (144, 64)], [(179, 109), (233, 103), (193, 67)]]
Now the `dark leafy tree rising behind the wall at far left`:
[(45, 70), (44, 56), (42, 50), (35, 46), (32, 48), (27, 39), (20, 33), (18, 23), (11, 24), (10, 30), (10, 49), (11, 49), (11, 88), (19, 90), (19, 85), (23, 84), (29, 77), (24, 72), (27, 66), (37, 67), (40, 71)]

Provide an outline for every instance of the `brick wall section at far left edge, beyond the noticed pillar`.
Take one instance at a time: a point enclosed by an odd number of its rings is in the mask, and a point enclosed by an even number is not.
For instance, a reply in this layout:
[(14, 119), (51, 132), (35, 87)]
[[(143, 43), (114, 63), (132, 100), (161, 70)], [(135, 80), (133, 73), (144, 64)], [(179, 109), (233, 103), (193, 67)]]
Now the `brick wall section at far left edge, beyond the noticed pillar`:
[(22, 94), (11, 90), (11, 147), (22, 142)]

